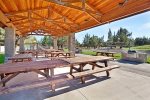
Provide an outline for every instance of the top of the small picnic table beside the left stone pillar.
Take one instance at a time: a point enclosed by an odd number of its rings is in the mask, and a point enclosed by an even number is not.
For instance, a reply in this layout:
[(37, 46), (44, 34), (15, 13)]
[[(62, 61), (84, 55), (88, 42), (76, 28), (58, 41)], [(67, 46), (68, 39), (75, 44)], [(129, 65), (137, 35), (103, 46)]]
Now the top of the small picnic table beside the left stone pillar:
[(13, 59), (29, 59), (33, 58), (31, 54), (16, 54), (13, 57), (9, 57), (8, 60), (13, 60)]

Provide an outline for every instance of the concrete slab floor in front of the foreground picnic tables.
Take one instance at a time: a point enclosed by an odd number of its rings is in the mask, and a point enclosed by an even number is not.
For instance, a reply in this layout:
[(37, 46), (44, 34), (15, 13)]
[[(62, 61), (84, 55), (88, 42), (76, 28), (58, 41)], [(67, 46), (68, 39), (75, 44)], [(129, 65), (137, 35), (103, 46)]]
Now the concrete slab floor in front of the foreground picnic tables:
[(111, 78), (105, 75), (87, 77), (86, 84), (80, 80), (58, 84), (54, 93), (46, 86), (0, 95), (0, 100), (150, 100), (150, 77), (120, 69), (112, 70)]

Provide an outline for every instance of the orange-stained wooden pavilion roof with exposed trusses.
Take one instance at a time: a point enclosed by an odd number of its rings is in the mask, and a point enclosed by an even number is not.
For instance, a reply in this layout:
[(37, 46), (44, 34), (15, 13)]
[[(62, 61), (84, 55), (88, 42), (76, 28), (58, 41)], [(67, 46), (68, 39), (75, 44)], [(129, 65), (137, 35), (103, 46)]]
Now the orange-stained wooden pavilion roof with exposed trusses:
[(20, 35), (62, 36), (149, 10), (150, 0), (0, 0), (0, 22)]

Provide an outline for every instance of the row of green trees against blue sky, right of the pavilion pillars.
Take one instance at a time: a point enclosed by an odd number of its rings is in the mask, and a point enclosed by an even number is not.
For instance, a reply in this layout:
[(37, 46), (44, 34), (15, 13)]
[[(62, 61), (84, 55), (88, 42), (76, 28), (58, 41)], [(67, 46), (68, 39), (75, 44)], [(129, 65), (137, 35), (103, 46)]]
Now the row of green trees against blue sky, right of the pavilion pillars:
[(83, 42), (80, 44), (76, 40), (77, 46), (82, 47), (93, 47), (97, 48), (100, 46), (110, 46), (110, 45), (119, 45), (119, 46), (139, 46), (139, 45), (148, 45), (150, 44), (150, 38), (146, 37), (137, 37), (135, 39), (132, 38), (132, 32), (129, 32), (125, 28), (120, 28), (116, 33), (112, 32), (111, 29), (108, 31), (108, 40), (104, 42), (104, 36), (90, 36), (86, 34)]

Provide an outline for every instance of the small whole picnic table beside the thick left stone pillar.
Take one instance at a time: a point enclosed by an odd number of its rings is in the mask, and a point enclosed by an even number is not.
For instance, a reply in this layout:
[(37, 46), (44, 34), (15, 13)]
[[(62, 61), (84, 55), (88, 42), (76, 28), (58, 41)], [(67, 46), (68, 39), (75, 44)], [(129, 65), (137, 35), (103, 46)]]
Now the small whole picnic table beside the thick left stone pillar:
[(16, 54), (13, 57), (9, 57), (8, 61), (14, 62), (24, 62), (24, 61), (32, 61), (33, 56), (32, 54)]

